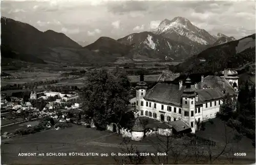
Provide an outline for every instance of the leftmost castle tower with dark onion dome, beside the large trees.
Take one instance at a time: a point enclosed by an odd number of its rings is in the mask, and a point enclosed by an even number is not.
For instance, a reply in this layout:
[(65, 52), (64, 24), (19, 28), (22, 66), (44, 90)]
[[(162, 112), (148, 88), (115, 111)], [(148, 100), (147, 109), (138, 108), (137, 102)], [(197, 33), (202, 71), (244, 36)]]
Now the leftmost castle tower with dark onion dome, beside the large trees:
[[(144, 75), (140, 75), (140, 82), (136, 86), (136, 111), (140, 111), (141, 102), (144, 100), (143, 97), (146, 95), (147, 84), (144, 82)], [(136, 116), (137, 117), (137, 114)]]

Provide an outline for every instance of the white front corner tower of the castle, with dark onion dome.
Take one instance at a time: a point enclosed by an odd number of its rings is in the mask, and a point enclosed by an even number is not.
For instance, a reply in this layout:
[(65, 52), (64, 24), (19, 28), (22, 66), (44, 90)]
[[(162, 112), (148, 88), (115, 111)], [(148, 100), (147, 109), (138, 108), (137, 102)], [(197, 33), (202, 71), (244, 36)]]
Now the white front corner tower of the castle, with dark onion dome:
[(182, 95), (182, 119), (194, 128), (196, 104), (195, 88), (191, 87), (191, 80), (189, 78), (186, 79), (185, 85), (186, 88)]

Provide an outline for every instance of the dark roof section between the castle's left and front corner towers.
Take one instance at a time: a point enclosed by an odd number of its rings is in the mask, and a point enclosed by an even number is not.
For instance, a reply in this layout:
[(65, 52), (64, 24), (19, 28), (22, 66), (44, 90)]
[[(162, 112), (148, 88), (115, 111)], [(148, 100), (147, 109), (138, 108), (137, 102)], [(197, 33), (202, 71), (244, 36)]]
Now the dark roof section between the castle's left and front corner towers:
[(179, 90), (179, 85), (176, 84), (157, 83), (153, 88), (147, 90), (144, 99), (180, 106), (185, 88), (186, 86), (182, 86)]

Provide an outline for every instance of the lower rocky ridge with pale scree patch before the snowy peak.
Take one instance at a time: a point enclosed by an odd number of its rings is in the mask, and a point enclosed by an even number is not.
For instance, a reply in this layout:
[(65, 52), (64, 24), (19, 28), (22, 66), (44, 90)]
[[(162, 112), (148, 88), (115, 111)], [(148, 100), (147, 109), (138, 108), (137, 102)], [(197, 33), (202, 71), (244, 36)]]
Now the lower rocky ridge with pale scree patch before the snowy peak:
[(133, 33), (117, 41), (133, 46), (130, 51), (130, 55), (133, 58), (145, 56), (160, 60), (182, 60), (203, 50), (202, 46), (191, 46), (152, 32)]

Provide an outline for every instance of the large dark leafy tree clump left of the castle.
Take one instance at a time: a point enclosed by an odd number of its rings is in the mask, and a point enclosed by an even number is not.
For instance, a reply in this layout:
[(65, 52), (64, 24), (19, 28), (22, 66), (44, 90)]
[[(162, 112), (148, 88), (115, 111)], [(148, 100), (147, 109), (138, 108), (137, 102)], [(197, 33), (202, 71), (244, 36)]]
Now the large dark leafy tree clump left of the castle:
[(110, 123), (119, 125), (129, 105), (129, 89), (129, 79), (123, 69), (93, 70), (81, 90), (82, 107), (99, 128), (106, 128)]

